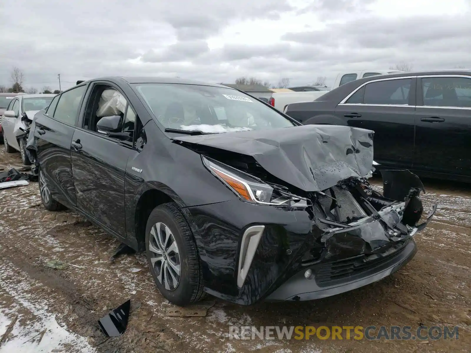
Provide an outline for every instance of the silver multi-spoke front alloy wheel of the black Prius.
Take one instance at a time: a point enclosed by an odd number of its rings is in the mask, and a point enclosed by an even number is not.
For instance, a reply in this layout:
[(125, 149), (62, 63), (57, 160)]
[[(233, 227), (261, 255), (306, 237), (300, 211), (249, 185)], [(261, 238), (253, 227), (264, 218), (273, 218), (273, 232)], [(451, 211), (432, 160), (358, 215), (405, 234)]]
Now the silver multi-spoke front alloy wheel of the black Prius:
[(169, 227), (161, 222), (152, 226), (150, 235), (150, 261), (157, 280), (165, 289), (174, 290), (180, 282), (180, 255), (175, 238)]

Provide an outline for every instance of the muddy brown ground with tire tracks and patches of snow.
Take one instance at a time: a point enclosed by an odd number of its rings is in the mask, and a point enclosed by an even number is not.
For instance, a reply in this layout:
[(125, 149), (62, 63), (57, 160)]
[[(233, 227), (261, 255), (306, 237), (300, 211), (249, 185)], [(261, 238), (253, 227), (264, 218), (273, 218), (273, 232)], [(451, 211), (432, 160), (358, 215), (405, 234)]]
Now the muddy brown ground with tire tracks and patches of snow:
[[(12, 166), (21, 166), (19, 154), (2, 148), (0, 169)], [(417, 255), (398, 273), (312, 302), (242, 307), (209, 297), (215, 305), (204, 317), (168, 316), (172, 305), (156, 290), (145, 256), (124, 255), (110, 262), (118, 242), (73, 212), (46, 211), (37, 183), (0, 190), (0, 352), (469, 352), (471, 186), (424, 184), (425, 208), (438, 202), (439, 210), (415, 237)], [(44, 266), (54, 259), (69, 267)], [(97, 319), (129, 298), (126, 333), (103, 337)], [(227, 338), (228, 325), (320, 324), (458, 325), (459, 339)]]

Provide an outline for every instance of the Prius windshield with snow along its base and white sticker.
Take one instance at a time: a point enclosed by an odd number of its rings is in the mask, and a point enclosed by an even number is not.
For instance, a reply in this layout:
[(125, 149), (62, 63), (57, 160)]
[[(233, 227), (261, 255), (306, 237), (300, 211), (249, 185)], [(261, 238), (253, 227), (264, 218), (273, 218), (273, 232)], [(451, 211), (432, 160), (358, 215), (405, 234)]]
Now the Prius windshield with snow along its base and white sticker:
[(165, 128), (220, 133), (295, 125), (267, 105), (230, 88), (174, 83), (139, 83), (134, 87)]

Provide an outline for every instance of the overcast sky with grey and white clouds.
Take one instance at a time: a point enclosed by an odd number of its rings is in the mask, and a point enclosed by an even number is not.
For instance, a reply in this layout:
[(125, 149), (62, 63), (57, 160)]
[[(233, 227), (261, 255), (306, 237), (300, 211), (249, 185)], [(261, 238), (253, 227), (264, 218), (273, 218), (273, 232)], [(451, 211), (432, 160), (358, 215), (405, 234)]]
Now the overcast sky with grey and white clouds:
[[(332, 84), (338, 72), (471, 68), (471, 0), (0, 0), (0, 85), (105, 75)], [(8, 33), (8, 35), (7, 35)]]

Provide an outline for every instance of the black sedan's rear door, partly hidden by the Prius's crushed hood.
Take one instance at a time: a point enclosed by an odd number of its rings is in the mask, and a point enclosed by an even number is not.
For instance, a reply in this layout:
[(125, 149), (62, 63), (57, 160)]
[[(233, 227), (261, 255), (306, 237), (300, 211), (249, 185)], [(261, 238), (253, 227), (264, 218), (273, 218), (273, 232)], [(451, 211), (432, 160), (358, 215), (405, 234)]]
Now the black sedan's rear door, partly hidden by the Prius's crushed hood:
[(415, 80), (395, 77), (366, 82), (335, 109), (349, 126), (374, 131), (374, 160), (386, 167), (412, 168)]

